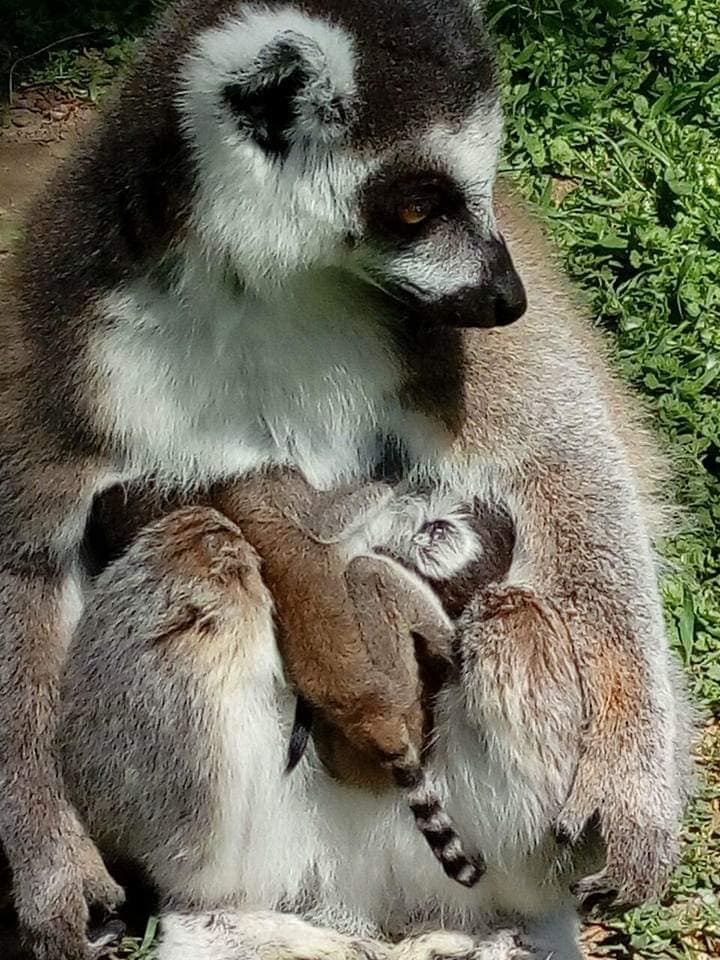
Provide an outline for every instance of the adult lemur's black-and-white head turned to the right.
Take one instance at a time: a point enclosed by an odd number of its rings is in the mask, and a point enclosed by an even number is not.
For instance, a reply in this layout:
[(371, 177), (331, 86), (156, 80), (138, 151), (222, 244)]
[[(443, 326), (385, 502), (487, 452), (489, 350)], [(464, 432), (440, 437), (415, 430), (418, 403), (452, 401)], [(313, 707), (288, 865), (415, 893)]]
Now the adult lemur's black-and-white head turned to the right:
[(403, 311), (508, 323), (495, 68), (473, 0), (220, 4), (180, 67), (192, 221), (251, 290), (345, 270)]

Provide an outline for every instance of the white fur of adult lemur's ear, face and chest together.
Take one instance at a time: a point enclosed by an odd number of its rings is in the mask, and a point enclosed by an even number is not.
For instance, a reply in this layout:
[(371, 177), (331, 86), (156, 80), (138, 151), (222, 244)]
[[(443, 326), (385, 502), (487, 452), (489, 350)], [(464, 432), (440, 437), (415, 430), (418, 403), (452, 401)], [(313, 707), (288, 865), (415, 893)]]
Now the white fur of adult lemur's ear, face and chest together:
[(184, 480), (287, 461), (328, 485), (367, 472), (378, 430), (405, 437), (420, 459), (447, 441), (400, 403), (402, 358), (390, 342), (399, 321), (372, 285), (380, 265), (431, 300), (482, 280), (482, 258), (462, 231), (447, 245), (440, 233), (381, 256), (359, 220), (361, 187), (388, 157), (436, 165), (457, 176), (479, 235), (489, 235), (497, 98), (452, 129), (438, 120), (414, 142), (372, 150), (302, 120), (279, 162), (238, 128), (222, 96), (278, 37), (307, 59), (303, 103), (339, 99), (352, 115), (354, 42), (337, 24), (249, 9), (194, 43), (178, 93), (197, 165), (189, 223), (161, 271), (101, 298), (110, 326), (89, 348), (95, 416), (130, 472)]

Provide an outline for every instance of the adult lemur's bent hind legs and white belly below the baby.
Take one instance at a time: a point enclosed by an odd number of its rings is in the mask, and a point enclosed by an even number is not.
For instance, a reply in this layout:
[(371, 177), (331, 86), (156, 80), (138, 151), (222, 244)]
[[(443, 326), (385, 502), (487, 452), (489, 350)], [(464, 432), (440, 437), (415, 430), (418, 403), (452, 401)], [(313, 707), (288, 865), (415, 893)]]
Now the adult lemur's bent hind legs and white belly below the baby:
[[(62, 690), (71, 795), (103, 849), (140, 863), (166, 907), (295, 909), (339, 934), (391, 939), (421, 922), (481, 938), (503, 914), (522, 917), (526, 932), (553, 911), (572, 915), (570, 882), (600, 862), (587, 844), (563, 851), (552, 830), (578, 764), (582, 691), (552, 611), (524, 599), (536, 611), (532, 637), (510, 623), (488, 642), (469, 608), (461, 678), (436, 706), (432, 776), (475, 849), (490, 850), (473, 891), (456, 892), (432, 868), (393, 792), (337, 782), (312, 749), (287, 776), (294, 698), (270, 593), (240, 529), (207, 507), (146, 527), (95, 583)], [(111, 684), (121, 698), (104, 693)], [(359, 860), (369, 849), (376, 855)], [(260, 953), (288, 935), (287, 918), (267, 923)], [(223, 928), (227, 944), (240, 924)], [(552, 949), (576, 955), (572, 941)]]

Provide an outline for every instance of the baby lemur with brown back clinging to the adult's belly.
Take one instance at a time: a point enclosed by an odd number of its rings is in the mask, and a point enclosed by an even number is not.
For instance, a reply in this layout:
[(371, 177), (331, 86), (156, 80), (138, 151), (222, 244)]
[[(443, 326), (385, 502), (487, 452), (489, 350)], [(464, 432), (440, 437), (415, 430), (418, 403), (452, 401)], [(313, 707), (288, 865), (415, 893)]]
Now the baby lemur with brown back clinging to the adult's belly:
[[(429, 582), (457, 580), (480, 559), (468, 508), (440, 492), (394, 497), (383, 485), (321, 493), (290, 470), (231, 484), (213, 502), (261, 557), (289, 675), (311, 691), (298, 699), (288, 772), (320, 709), (406, 791), (448, 876), (474, 886), (482, 858), (466, 855), (423, 766), (428, 725), (418, 664), (418, 646), (441, 671), (452, 659), (452, 623)], [(302, 565), (297, 589), (287, 570)], [(339, 621), (326, 615), (328, 600), (342, 611)], [(313, 689), (321, 690), (314, 702)]]

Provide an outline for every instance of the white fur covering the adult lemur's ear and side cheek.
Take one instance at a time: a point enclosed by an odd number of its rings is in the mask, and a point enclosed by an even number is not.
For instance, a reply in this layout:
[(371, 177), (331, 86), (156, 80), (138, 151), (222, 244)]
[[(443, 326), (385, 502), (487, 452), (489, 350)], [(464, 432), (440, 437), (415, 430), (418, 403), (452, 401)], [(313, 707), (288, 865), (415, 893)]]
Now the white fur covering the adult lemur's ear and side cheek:
[[(285, 40), (307, 60), (312, 79), (301, 95), (307, 115), (280, 161), (238, 128), (223, 90), (252, 76), (263, 49)], [(201, 244), (186, 256), (226, 261), (256, 293), (272, 293), (297, 271), (335, 265), (369, 167), (311, 118), (334, 99), (352, 98), (352, 38), (295, 10), (251, 8), (201, 36), (182, 75), (179, 106), (198, 166), (192, 220)]]

